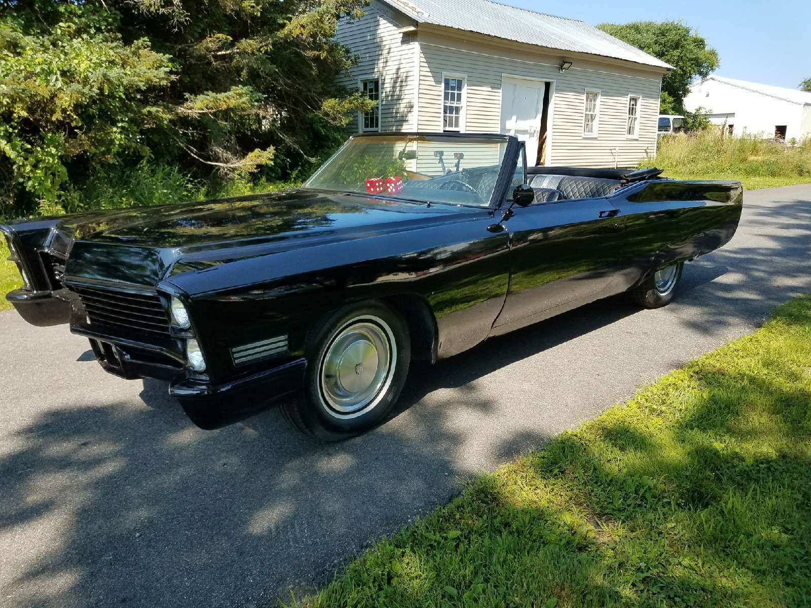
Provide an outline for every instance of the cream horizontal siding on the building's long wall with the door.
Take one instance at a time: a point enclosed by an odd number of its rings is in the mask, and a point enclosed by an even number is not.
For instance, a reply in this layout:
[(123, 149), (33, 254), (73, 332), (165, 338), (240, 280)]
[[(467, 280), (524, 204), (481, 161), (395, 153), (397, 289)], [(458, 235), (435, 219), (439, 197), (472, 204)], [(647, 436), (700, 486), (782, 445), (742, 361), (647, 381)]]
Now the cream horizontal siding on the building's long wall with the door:
[[(551, 116), (552, 165), (612, 167), (635, 165), (654, 156), (659, 114), (659, 75), (639, 77), (607, 73), (611, 66), (597, 69), (575, 66), (560, 73), (556, 65), (543, 65), (515, 58), (446, 48), (442, 41), (420, 37), (419, 129), (442, 129), (442, 72), (467, 75), (466, 131), (500, 132), (502, 75), (555, 81)], [(554, 62), (554, 58), (547, 58)], [(602, 71), (601, 71), (602, 70)], [(617, 70), (618, 72), (621, 70)], [(599, 136), (582, 137), (583, 103), (586, 88), (601, 91)], [(625, 137), (628, 96), (641, 97), (639, 138)]]

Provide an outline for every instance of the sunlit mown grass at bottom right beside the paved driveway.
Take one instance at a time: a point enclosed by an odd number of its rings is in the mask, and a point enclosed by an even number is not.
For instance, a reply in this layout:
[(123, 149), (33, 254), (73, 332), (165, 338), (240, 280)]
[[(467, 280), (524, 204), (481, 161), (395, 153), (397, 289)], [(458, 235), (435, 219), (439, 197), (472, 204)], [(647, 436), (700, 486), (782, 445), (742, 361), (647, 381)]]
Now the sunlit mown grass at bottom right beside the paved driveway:
[(809, 438), (806, 296), (479, 476), (293, 604), (809, 606)]

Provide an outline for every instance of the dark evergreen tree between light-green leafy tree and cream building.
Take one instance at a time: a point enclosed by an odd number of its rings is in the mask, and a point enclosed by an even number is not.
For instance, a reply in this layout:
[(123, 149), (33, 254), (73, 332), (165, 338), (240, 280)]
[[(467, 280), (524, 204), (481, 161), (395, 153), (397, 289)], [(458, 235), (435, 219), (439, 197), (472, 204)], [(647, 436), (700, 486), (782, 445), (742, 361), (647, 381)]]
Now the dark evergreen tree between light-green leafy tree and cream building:
[[(366, 107), (338, 88), (354, 58), (334, 40), (342, 15), (363, 0), (116, 0), (122, 34), (148, 32), (177, 66), (168, 100), (173, 140), (224, 174), (273, 164), (277, 171), (331, 148), (333, 126)], [(108, 2), (109, 6), (109, 2)]]

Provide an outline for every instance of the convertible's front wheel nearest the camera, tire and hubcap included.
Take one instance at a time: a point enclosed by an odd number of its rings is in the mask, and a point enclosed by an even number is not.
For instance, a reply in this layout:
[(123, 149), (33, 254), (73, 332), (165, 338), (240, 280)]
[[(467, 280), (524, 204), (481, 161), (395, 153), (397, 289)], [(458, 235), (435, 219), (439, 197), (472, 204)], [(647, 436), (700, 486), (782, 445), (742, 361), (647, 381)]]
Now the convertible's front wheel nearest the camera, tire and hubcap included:
[(397, 313), (380, 302), (338, 310), (310, 332), (307, 373), (285, 417), (307, 435), (347, 439), (391, 413), (408, 374), (410, 337)]

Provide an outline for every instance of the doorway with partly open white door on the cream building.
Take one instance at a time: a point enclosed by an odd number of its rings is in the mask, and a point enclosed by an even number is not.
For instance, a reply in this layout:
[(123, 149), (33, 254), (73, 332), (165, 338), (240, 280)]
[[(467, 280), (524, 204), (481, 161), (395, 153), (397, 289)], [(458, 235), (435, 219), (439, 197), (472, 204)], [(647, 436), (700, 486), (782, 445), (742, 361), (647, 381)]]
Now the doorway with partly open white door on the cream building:
[(543, 164), (547, 155), (547, 126), (551, 82), (522, 76), (501, 79), (501, 132), (526, 145), (530, 165)]

